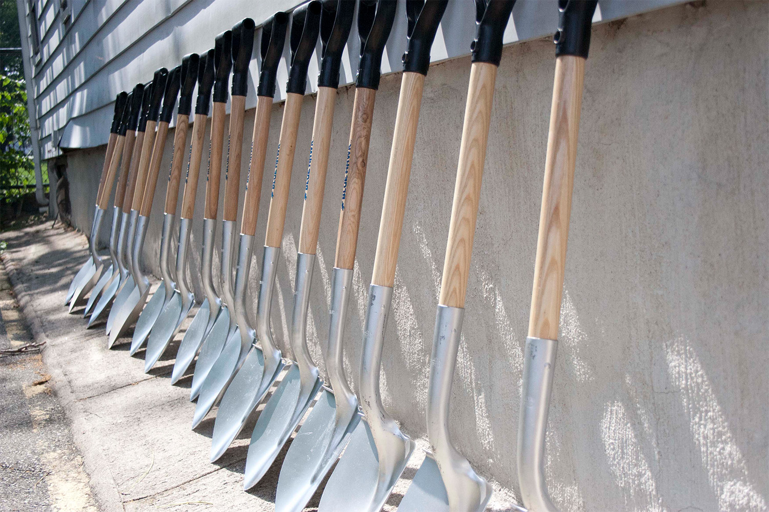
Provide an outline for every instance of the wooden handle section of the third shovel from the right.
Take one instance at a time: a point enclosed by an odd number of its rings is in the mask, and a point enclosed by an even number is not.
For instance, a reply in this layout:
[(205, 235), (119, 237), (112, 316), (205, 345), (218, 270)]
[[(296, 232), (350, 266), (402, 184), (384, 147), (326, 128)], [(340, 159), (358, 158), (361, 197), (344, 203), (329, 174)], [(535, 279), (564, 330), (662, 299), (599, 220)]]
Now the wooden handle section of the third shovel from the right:
[(414, 142), (417, 140), (423, 89), (424, 74), (403, 74), (387, 184), (384, 187), (384, 203), (379, 220), (374, 273), (371, 277), (371, 283), (379, 286), (392, 287), (395, 284), (395, 265), (398, 263), (398, 249), (401, 246), (408, 180), (411, 177), (411, 160), (414, 157)]

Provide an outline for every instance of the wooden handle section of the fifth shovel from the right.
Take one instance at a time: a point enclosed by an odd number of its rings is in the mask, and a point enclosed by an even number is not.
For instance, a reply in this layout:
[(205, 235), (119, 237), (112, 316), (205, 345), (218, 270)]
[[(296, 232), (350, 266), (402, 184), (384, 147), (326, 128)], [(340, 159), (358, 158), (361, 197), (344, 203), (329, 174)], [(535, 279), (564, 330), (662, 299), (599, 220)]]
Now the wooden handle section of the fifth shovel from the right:
[(328, 170), (328, 148), (331, 147), (331, 128), (334, 126), (336, 88), (319, 87), (312, 122), (312, 142), (305, 183), (305, 206), (301, 210), (299, 252), (315, 254), (318, 250), (318, 231), (321, 229), (323, 194)]

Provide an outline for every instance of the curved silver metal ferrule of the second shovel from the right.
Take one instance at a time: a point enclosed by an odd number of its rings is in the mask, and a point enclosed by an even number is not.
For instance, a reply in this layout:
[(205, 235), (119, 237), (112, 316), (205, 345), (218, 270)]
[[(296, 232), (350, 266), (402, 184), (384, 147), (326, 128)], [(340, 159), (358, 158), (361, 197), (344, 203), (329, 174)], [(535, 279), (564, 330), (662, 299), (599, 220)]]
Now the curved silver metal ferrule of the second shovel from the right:
[(438, 306), (428, 388), (428, 438), (446, 487), (449, 509), (484, 510), (491, 497), (491, 487), (454, 448), (448, 433), (451, 382), (454, 380), (463, 318), (462, 308)]

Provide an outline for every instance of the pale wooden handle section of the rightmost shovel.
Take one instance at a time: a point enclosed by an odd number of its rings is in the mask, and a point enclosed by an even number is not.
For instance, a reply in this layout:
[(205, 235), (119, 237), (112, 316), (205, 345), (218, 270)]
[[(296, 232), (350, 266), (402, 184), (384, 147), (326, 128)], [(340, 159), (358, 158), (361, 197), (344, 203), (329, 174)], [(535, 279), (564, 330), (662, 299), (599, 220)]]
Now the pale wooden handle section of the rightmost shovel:
[(529, 315), (528, 335), (535, 338), (558, 339), (584, 61), (584, 58), (574, 55), (561, 55), (555, 61), (548, 154), (544, 163), (542, 209)]

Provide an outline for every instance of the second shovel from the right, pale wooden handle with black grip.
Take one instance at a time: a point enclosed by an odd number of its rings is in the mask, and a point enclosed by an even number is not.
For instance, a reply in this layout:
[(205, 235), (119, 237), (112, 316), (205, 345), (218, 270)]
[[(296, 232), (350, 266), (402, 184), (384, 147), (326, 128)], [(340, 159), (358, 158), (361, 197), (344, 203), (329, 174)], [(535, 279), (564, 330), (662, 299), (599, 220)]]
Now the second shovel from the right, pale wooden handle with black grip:
[(494, 81), (502, 35), (514, 0), (477, 3), (468, 99), (430, 364), (427, 425), (432, 454), (424, 459), (398, 510), (484, 510), (491, 485), (473, 471), (448, 433), (451, 383), (461, 337), (464, 296), (481, 195)]

